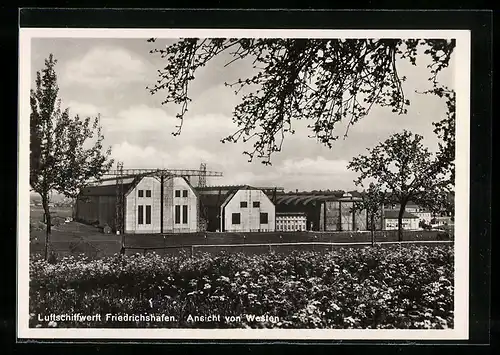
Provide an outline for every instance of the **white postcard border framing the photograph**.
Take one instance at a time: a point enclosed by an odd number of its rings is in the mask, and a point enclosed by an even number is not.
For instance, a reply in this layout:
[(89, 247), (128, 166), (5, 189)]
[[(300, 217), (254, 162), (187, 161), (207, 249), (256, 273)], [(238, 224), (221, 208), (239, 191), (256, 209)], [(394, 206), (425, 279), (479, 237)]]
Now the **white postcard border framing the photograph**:
[[(29, 328), (29, 92), (32, 38), (455, 38), (456, 203), (454, 329), (88, 329)], [(465, 340), (469, 327), (470, 31), (20, 28), (17, 331), (22, 339)]]

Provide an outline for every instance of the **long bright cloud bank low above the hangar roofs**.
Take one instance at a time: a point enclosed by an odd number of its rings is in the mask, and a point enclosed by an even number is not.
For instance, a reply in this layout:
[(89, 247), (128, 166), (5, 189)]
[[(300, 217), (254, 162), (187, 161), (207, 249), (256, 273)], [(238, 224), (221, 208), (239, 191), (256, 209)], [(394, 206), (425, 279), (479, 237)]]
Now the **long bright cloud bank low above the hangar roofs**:
[(166, 151), (123, 141), (112, 149), (113, 158), (122, 161), (125, 168), (197, 169), (203, 161), (208, 170), (223, 173), (223, 177), (208, 177), (209, 185), (248, 184), (300, 191), (354, 188), (355, 176), (345, 168), (347, 163), (342, 160), (287, 159), (279, 166), (256, 168), (242, 159), (234, 159), (235, 152), (219, 156), (194, 145)]

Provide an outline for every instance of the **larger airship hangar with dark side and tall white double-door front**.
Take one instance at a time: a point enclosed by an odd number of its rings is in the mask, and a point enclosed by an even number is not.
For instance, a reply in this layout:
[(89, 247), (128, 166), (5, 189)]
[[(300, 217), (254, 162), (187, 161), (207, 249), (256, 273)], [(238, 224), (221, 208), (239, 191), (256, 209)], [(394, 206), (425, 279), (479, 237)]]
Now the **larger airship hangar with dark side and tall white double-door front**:
[(123, 211), (126, 234), (193, 233), (199, 230), (199, 198), (180, 176), (123, 179), (123, 205), (118, 206), (116, 182), (90, 186), (78, 198), (75, 219), (116, 230), (117, 208)]

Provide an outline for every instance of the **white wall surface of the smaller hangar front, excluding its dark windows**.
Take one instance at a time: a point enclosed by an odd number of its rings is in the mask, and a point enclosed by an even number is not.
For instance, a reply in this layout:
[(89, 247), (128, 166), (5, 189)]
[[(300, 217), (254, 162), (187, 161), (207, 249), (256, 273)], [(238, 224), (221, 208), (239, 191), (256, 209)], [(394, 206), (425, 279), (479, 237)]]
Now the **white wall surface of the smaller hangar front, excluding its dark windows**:
[[(240, 202), (246, 201), (247, 207), (240, 207)], [(253, 202), (260, 202), (259, 207), (253, 207)], [(232, 224), (232, 214), (240, 213), (240, 224)], [(267, 213), (268, 223), (260, 223), (260, 214)], [(272, 201), (261, 190), (239, 190), (224, 207), (225, 231), (252, 232), (275, 230), (275, 209)]]

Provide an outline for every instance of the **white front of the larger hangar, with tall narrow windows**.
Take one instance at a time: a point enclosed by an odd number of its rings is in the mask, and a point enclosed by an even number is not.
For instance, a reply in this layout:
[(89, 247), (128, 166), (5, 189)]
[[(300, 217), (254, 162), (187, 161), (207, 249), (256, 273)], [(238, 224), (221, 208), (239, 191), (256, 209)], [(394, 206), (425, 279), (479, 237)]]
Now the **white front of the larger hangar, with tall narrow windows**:
[(192, 186), (169, 177), (163, 196), (161, 190), (160, 178), (147, 176), (125, 194), (125, 233), (197, 232), (198, 197)]

